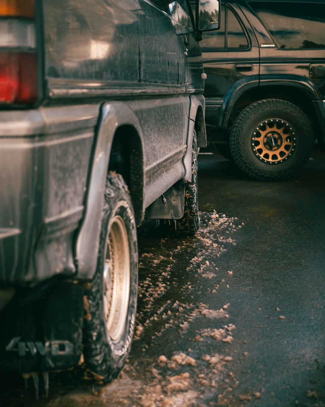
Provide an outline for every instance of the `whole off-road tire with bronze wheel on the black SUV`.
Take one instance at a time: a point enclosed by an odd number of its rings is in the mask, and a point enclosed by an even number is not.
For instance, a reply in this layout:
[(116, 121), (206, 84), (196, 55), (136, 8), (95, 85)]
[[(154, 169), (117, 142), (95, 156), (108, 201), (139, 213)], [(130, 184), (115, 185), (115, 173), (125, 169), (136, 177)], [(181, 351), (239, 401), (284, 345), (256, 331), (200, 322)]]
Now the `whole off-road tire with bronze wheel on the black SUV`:
[(260, 180), (293, 177), (308, 162), (313, 144), (307, 116), (279, 99), (261, 100), (243, 109), (230, 133), (234, 161), (249, 177)]

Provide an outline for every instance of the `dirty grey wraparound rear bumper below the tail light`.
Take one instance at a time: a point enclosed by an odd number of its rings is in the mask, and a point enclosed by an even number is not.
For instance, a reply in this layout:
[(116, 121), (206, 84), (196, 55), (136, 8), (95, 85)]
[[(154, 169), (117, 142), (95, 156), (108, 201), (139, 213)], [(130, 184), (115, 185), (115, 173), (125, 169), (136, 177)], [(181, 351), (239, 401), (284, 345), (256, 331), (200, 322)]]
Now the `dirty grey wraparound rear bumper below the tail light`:
[(0, 112), (0, 284), (72, 276), (98, 105)]

